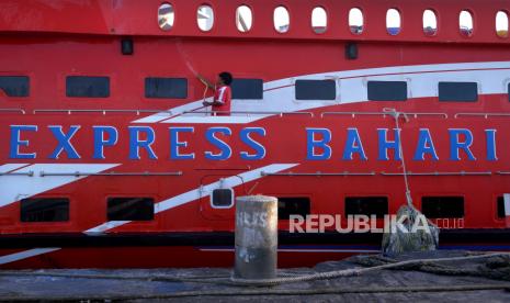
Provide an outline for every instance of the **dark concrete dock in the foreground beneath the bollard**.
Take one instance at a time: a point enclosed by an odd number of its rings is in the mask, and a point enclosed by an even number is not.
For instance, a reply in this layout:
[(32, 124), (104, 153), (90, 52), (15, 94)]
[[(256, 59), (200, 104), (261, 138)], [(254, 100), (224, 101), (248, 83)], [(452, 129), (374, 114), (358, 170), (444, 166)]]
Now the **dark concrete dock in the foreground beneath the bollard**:
[[(366, 269), (411, 259), (472, 257), (468, 251), (413, 252), (397, 258), (358, 256), (314, 268), (279, 270), (279, 277), (317, 276)], [(148, 302), (510, 302), (510, 258), (408, 263), (308, 281), (272, 285), (234, 283), (231, 269), (52, 269), (0, 271), (0, 301), (127, 301)]]

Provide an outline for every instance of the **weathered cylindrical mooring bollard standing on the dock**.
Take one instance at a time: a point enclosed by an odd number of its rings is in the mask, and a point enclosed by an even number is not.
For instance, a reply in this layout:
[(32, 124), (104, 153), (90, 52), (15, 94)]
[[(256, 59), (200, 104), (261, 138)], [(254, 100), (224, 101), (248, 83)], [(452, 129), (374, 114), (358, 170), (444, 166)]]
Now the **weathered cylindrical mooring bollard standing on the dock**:
[(236, 261), (234, 277), (276, 277), (277, 199), (247, 195), (236, 199)]

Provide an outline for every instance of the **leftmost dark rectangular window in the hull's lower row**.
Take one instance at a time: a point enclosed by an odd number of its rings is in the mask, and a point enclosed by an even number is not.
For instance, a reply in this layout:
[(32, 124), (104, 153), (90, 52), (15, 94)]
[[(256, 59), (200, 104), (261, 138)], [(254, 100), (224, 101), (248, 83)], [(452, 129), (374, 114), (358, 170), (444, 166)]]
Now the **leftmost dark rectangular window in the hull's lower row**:
[(69, 199), (29, 198), (21, 200), (21, 222), (69, 221)]

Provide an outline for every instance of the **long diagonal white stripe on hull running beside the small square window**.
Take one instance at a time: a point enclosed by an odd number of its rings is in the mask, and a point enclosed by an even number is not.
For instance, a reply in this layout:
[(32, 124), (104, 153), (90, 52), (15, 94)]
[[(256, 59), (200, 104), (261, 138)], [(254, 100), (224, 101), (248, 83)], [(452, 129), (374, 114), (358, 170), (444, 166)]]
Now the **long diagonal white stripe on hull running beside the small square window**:
[[(234, 188), (242, 183), (260, 179), (263, 177), (262, 172), (274, 173), (274, 172), (280, 172), (282, 170), (285, 170), (285, 169), (288, 169), (295, 166), (297, 166), (297, 164), (273, 164), (273, 165), (264, 166), (264, 167), (253, 169), (250, 171), (246, 171), (246, 172), (242, 172), (236, 176), (231, 176), (231, 177), (225, 178), (223, 180), (219, 180), (219, 181), (216, 181), (216, 182), (213, 182), (213, 183), (200, 187), (200, 188), (195, 188), (188, 192), (181, 193), (179, 195), (175, 195), (170, 199), (163, 200), (159, 203), (156, 203), (155, 213), (165, 212), (173, 207), (177, 207), (179, 205), (190, 203), (203, 197), (208, 197), (214, 189), (217, 189), (220, 187)], [(110, 221), (101, 225), (98, 225), (95, 227), (92, 227), (90, 229), (87, 229), (83, 233), (91, 234), (91, 235), (102, 234), (104, 232), (122, 226), (129, 222), (131, 221)]]

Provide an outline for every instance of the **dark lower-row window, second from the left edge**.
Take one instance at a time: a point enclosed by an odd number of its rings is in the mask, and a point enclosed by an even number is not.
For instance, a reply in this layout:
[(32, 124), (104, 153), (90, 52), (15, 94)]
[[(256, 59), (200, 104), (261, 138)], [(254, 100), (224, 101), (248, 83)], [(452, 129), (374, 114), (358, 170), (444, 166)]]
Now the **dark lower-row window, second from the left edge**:
[(150, 221), (154, 220), (152, 198), (109, 198), (109, 221)]

